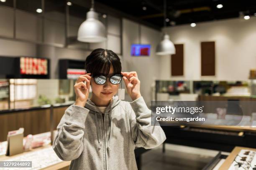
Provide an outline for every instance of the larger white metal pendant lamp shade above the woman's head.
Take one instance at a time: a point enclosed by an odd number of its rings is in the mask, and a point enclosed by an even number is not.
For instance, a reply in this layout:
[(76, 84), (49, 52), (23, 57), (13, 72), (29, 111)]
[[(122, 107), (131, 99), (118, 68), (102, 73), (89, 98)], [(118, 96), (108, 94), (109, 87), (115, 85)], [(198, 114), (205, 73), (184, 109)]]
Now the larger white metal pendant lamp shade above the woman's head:
[(102, 42), (106, 39), (105, 26), (98, 20), (98, 14), (91, 8), (87, 12), (86, 20), (79, 27), (77, 40), (81, 42)]

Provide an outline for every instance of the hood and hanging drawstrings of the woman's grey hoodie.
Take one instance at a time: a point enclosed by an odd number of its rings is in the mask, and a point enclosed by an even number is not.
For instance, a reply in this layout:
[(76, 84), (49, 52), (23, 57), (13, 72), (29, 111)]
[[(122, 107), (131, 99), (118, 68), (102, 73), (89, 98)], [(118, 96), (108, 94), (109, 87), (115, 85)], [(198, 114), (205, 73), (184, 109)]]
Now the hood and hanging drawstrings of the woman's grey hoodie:
[[(108, 137), (108, 141), (107, 141), (107, 149), (109, 151), (111, 150), (110, 142), (111, 142), (111, 134), (112, 134), (112, 130), (113, 130), (113, 121), (112, 121), (111, 113), (112, 113), (113, 108), (115, 106), (117, 106), (120, 102), (121, 102), (121, 100), (118, 100), (118, 96), (113, 96), (111, 102), (106, 107), (105, 112), (104, 112), (104, 114), (107, 114), (110, 118), (110, 133), (109, 133), (109, 137)], [(101, 143), (102, 140), (100, 140), (100, 129), (99, 129), (97, 113), (100, 113), (100, 114), (102, 114), (102, 113), (100, 112), (99, 108), (94, 104), (94, 102), (92, 102), (90, 99), (87, 99), (85, 108), (91, 110), (92, 111), (91, 113), (94, 114), (94, 116), (95, 116), (95, 123), (96, 123), (96, 127), (97, 127), (98, 148), (100, 149), (102, 146), (102, 143)]]

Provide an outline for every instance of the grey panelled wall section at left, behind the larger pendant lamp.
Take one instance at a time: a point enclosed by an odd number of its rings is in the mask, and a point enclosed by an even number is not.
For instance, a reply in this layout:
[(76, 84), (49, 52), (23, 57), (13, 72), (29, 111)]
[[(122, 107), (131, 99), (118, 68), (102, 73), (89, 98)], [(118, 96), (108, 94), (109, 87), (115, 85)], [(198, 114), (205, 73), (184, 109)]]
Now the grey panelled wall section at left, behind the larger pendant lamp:
[[(105, 42), (91, 44), (72, 42), (66, 47), (64, 13), (47, 11), (44, 18), (44, 31), (42, 30), (43, 19), (40, 15), (17, 9), (16, 17), (14, 39), (13, 8), (0, 6), (0, 55), (49, 58), (51, 59), (51, 79), (59, 78), (59, 59), (85, 60), (93, 49), (99, 47), (121, 53), (120, 18), (110, 15), (107, 18), (99, 17), (106, 27)], [(78, 28), (84, 19), (69, 15), (68, 37), (76, 38)]]

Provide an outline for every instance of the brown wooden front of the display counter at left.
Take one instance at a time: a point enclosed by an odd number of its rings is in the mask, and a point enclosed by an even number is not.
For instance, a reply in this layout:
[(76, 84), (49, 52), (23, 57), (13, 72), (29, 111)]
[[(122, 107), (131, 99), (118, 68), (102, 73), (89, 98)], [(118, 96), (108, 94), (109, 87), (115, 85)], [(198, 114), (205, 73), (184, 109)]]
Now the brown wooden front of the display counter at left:
[[(73, 102), (0, 111), (0, 141), (7, 140), (9, 131), (24, 128), (24, 136), (56, 129), (67, 107)], [(51, 127), (52, 125), (52, 127)]]

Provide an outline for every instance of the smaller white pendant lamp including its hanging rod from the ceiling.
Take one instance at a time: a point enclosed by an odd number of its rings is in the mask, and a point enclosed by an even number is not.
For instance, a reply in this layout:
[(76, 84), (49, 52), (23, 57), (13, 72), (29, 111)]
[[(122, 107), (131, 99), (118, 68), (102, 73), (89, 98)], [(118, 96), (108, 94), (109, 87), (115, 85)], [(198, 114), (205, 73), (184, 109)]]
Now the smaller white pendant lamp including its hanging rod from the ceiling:
[[(164, 27), (166, 27), (166, 0), (164, 0)], [(168, 21), (169, 22), (169, 21)], [(156, 55), (172, 55), (175, 54), (175, 46), (170, 40), (169, 35), (164, 34), (164, 39), (156, 47)]]

